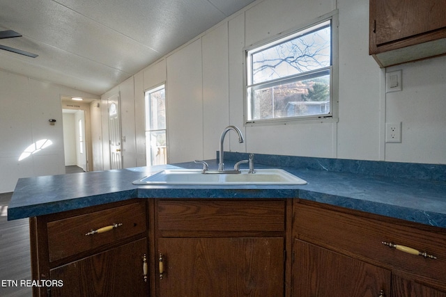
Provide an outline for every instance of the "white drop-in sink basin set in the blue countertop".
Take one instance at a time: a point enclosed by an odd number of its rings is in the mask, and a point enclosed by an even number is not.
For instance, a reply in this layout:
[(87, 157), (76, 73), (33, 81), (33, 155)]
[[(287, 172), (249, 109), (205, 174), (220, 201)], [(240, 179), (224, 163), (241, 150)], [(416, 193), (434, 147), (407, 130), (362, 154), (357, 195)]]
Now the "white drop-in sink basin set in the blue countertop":
[(169, 184), (307, 184), (305, 180), (296, 177), (282, 169), (256, 169), (255, 173), (240, 170), (239, 174), (203, 174), (202, 170), (172, 169), (162, 170), (133, 182), (138, 185), (169, 185)]

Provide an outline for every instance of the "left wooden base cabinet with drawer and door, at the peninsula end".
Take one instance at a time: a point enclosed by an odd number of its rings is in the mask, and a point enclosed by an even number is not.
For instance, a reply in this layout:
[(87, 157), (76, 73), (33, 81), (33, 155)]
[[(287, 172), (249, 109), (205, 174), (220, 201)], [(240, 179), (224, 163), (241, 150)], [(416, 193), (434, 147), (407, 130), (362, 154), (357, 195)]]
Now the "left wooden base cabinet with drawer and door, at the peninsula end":
[(148, 296), (147, 221), (146, 200), (31, 218), (33, 296)]

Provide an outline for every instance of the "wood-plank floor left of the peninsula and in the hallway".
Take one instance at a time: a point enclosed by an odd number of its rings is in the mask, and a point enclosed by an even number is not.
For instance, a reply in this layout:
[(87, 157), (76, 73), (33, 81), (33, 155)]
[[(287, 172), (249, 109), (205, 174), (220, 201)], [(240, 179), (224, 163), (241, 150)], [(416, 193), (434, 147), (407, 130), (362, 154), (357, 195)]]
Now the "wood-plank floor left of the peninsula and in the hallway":
[[(66, 173), (75, 172), (84, 170), (66, 166)], [(29, 220), (8, 220), (8, 204), (12, 195), (0, 193), (0, 296), (29, 297), (31, 288), (20, 287), (20, 280), (31, 280)], [(8, 286), (8, 280), (17, 281), (18, 287)]]

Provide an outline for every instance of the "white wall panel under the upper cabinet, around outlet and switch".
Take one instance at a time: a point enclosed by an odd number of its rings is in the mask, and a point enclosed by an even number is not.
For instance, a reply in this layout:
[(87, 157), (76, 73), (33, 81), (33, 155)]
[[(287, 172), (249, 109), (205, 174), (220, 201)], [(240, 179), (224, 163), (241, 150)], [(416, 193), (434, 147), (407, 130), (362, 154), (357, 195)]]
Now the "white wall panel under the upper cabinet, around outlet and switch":
[(402, 70), (403, 91), (387, 93), (387, 122), (401, 122), (401, 143), (385, 145), (385, 159), (446, 163), (446, 56), (389, 67)]

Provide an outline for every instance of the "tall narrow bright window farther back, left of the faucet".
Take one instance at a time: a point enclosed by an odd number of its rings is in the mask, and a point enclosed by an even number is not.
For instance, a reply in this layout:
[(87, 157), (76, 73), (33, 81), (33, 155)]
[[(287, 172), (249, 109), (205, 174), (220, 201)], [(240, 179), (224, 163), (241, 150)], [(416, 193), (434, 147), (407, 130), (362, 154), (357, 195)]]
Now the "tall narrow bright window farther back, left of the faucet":
[(146, 91), (146, 163), (167, 163), (166, 94), (164, 85)]

